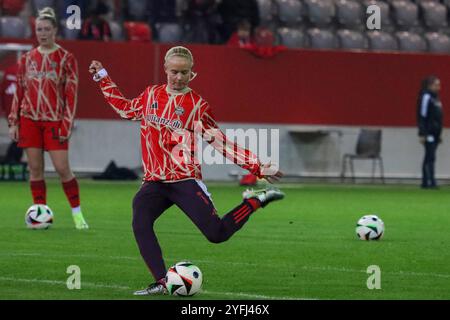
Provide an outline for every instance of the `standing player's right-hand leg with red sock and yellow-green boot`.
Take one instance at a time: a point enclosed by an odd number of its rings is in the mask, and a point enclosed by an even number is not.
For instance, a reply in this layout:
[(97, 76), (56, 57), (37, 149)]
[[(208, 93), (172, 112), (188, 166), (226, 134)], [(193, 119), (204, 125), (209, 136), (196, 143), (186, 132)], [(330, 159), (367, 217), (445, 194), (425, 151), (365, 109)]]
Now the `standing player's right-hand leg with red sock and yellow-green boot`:
[(49, 150), (53, 166), (58, 173), (64, 193), (72, 208), (72, 217), (77, 229), (89, 229), (86, 220), (81, 213), (80, 188), (78, 181), (72, 173), (69, 165), (69, 155), (67, 150)]

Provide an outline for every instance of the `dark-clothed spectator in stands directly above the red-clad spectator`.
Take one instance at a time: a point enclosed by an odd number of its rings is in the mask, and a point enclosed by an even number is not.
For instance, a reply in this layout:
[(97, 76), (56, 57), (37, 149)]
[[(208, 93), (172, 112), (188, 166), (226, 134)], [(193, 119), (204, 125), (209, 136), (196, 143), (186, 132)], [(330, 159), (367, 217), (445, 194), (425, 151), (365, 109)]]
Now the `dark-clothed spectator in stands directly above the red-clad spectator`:
[(255, 28), (259, 25), (259, 11), (256, 0), (222, 0), (218, 6), (223, 24), (219, 28), (223, 39), (228, 40), (242, 20), (248, 20)]

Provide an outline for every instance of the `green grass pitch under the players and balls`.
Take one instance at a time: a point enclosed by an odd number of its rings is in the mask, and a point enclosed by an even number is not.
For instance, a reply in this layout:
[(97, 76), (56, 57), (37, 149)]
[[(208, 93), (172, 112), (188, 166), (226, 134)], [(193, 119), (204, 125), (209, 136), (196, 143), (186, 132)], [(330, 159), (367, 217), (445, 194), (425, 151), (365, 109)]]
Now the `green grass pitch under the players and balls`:
[[(222, 214), (243, 188), (207, 184)], [(139, 182), (80, 180), (91, 227), (75, 230), (60, 183), (47, 181), (55, 213), (49, 230), (28, 230), (27, 183), (0, 183), (0, 299), (135, 299), (152, 282), (131, 230)], [(259, 210), (228, 242), (209, 243), (175, 206), (156, 222), (166, 264), (190, 260), (203, 271), (192, 299), (450, 299), (450, 189), (416, 186), (281, 185), (283, 201)], [(378, 214), (381, 241), (355, 235), (356, 221)], [(68, 290), (67, 268), (81, 269)], [(369, 290), (370, 265), (381, 289)], [(181, 299), (171, 296), (137, 299)]]

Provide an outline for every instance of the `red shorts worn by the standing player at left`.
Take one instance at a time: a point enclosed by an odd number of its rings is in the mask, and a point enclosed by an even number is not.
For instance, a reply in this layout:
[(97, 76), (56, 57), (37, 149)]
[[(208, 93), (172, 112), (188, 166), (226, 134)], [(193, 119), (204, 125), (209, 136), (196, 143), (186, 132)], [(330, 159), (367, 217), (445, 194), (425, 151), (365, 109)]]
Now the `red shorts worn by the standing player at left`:
[(21, 148), (67, 150), (68, 140), (59, 141), (60, 121), (33, 121), (21, 117), (19, 123), (19, 144)]

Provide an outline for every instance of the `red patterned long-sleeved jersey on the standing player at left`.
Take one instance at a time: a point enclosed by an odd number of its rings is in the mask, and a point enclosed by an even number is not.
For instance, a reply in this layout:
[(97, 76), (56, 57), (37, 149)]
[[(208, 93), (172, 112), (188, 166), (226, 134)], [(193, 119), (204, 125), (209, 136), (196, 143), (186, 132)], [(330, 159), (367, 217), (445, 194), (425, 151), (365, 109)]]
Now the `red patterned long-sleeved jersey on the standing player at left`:
[(19, 60), (17, 90), (10, 125), (19, 117), (34, 121), (62, 121), (60, 135), (68, 137), (75, 117), (78, 90), (78, 66), (73, 54), (56, 46), (25, 53)]

